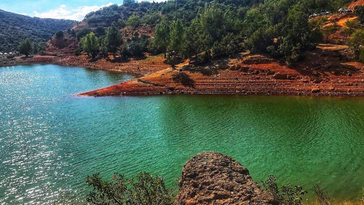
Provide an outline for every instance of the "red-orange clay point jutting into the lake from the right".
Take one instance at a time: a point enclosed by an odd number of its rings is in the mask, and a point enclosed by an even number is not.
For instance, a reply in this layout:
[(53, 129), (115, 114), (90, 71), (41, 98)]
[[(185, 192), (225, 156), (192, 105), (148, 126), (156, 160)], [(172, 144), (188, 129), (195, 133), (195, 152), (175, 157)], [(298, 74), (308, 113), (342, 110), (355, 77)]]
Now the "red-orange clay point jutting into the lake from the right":
[(304, 61), (293, 66), (248, 53), (203, 66), (181, 63), (176, 69), (167, 67), (78, 96), (180, 93), (364, 96), (364, 64), (349, 61), (345, 49), (345, 46), (319, 45)]

